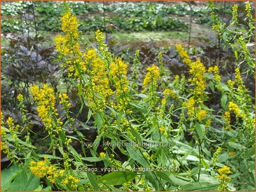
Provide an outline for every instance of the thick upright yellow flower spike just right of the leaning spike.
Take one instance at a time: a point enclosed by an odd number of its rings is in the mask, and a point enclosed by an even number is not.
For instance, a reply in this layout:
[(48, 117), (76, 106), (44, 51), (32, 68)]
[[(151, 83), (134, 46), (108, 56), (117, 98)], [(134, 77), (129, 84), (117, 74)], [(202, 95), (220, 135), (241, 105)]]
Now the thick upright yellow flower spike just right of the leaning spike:
[(200, 97), (203, 95), (205, 90), (205, 77), (204, 73), (206, 72), (205, 66), (199, 59), (195, 62), (192, 62), (190, 66), (189, 73), (192, 74), (193, 78), (190, 78), (188, 81), (191, 82), (195, 88), (193, 89), (195, 95)]

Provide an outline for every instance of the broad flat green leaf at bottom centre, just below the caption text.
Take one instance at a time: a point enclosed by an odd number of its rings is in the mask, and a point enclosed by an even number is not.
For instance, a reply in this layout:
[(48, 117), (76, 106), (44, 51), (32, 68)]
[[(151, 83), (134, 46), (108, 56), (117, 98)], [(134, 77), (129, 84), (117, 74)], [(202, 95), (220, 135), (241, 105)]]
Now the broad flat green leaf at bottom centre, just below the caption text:
[(105, 176), (100, 178), (100, 181), (106, 181), (110, 185), (122, 185), (125, 182), (132, 181), (137, 176), (134, 172), (111, 172), (105, 174)]

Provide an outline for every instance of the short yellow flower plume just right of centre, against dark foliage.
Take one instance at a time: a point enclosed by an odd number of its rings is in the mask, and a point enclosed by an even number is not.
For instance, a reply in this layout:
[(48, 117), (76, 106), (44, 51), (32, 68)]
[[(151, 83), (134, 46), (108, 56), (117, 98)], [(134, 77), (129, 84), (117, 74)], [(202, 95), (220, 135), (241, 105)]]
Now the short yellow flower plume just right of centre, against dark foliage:
[(156, 87), (156, 82), (159, 80), (159, 69), (156, 65), (150, 66), (147, 68), (147, 74), (143, 81), (144, 91), (147, 89), (147, 86)]

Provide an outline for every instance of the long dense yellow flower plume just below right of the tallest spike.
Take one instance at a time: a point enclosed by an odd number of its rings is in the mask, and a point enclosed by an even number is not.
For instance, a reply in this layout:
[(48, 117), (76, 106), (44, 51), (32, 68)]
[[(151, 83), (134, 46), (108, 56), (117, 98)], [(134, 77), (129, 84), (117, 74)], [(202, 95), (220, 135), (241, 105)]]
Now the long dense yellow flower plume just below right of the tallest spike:
[[(89, 84), (86, 87), (85, 95), (88, 106), (94, 111), (103, 112), (106, 99), (113, 94), (109, 86), (109, 78), (106, 73), (104, 61), (97, 56), (94, 49), (89, 49), (85, 55), (85, 64), (88, 66), (87, 73), (89, 74)], [(98, 95), (96, 97), (95, 95)]]

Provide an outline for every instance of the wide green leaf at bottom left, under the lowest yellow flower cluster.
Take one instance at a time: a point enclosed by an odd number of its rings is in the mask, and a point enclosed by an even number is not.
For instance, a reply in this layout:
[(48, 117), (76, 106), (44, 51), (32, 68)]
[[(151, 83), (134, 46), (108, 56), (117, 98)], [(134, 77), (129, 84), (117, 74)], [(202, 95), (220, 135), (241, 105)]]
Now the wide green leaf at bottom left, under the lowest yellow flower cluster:
[(11, 183), (8, 191), (34, 191), (40, 185), (40, 178), (35, 177), (30, 171), (26, 173), (23, 169), (22, 173), (18, 174)]

